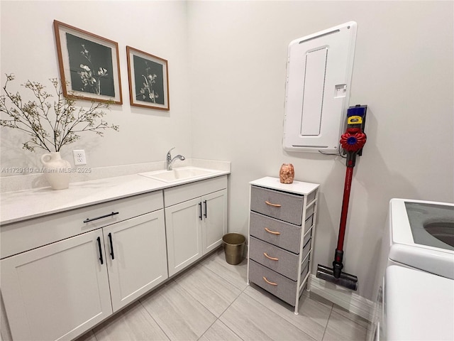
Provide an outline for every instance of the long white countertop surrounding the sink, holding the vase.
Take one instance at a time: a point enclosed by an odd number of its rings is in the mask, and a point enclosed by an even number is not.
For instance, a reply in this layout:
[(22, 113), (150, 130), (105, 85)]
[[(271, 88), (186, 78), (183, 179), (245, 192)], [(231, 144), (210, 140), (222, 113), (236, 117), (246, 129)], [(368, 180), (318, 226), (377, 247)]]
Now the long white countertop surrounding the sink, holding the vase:
[(165, 183), (142, 175), (123, 175), (114, 178), (70, 183), (65, 190), (36, 188), (0, 195), (0, 224), (10, 224), (43, 215), (72, 210), (74, 208), (99, 204), (164, 188), (192, 183), (229, 174), (230, 171), (216, 171), (194, 179)]

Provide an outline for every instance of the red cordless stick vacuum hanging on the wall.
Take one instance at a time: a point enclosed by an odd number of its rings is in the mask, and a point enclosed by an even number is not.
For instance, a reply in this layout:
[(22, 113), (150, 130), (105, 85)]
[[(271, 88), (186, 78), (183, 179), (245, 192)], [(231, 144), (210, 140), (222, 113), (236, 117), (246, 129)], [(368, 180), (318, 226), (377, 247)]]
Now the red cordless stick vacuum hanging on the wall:
[(357, 105), (348, 108), (347, 130), (341, 136), (341, 146), (347, 153), (347, 170), (345, 172), (345, 185), (343, 188), (343, 201), (341, 212), (341, 223), (339, 224), (338, 246), (334, 254), (333, 268), (320, 265), (317, 267), (317, 277), (345, 286), (351, 290), (358, 289), (358, 277), (342, 272), (343, 264), (343, 239), (345, 236), (345, 225), (347, 224), (348, 202), (350, 200), (350, 188), (352, 185), (353, 168), (355, 167), (356, 156), (361, 155), (362, 147), (366, 143), (364, 124), (367, 106)]

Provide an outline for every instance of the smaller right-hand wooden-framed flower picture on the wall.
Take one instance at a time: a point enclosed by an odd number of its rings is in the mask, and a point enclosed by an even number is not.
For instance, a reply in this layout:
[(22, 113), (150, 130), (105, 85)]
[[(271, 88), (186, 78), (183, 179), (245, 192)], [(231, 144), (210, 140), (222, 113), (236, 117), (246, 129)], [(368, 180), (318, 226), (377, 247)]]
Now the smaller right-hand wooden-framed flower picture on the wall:
[(170, 110), (167, 60), (126, 46), (132, 106)]

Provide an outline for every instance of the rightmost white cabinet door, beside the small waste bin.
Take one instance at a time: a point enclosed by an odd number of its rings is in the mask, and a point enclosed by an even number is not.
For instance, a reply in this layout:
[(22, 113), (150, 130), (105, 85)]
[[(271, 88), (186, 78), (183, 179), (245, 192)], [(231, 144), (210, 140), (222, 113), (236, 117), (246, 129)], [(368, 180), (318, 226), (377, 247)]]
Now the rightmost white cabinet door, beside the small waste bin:
[(203, 254), (216, 249), (227, 232), (227, 190), (201, 197), (204, 206), (202, 223)]

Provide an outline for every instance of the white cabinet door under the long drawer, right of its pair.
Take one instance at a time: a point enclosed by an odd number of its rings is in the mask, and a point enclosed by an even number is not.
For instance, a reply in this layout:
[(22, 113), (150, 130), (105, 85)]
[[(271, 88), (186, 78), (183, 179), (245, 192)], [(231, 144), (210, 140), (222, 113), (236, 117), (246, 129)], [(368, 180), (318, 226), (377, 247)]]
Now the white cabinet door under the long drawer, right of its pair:
[(114, 312), (167, 276), (164, 210), (104, 227)]

